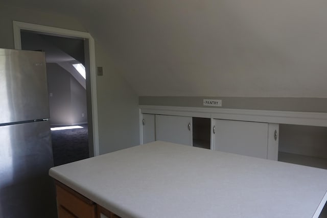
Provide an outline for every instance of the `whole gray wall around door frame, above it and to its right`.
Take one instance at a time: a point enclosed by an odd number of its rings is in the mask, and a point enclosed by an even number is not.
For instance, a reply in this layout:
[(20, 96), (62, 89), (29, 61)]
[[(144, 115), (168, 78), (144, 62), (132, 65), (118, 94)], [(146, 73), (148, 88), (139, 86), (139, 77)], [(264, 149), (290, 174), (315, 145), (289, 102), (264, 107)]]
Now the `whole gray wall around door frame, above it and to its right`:
[[(82, 23), (72, 17), (2, 5), (0, 47), (14, 49), (13, 20), (86, 31)], [(104, 76), (97, 78), (100, 154), (139, 143), (138, 96), (115, 69), (102, 46), (96, 39), (96, 65), (104, 68)]]

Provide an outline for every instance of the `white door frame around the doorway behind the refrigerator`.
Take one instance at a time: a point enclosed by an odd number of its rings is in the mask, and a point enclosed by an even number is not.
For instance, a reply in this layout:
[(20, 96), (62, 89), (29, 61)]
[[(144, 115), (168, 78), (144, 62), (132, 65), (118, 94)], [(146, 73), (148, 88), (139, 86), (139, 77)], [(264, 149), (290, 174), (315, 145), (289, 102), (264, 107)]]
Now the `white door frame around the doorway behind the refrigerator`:
[(96, 75), (96, 53), (95, 42), (93, 37), (86, 32), (67, 30), (55, 27), (35, 25), (32, 23), (13, 21), (14, 45), (15, 49), (21, 50), (20, 31), (29, 30), (39, 33), (46, 33), (54, 36), (77, 37), (89, 40), (89, 57), (90, 57), (90, 84), (91, 84), (91, 104), (92, 104), (92, 122), (93, 122), (93, 146), (94, 155), (99, 155), (99, 130), (98, 130), (98, 103), (97, 103), (97, 75)]

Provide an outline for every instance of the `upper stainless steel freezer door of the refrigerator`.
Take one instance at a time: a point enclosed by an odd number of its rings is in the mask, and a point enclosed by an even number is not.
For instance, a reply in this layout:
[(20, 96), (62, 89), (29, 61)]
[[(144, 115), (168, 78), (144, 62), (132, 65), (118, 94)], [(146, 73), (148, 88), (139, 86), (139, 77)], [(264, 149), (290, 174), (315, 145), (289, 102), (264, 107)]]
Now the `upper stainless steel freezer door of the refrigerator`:
[(0, 49), (0, 125), (49, 118), (43, 52)]

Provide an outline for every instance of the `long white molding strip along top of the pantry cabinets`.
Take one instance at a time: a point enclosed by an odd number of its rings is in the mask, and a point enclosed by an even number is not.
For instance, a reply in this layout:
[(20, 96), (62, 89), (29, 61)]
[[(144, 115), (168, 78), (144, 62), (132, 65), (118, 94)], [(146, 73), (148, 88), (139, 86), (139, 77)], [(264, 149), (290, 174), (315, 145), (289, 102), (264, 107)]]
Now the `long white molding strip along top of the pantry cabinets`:
[(327, 113), (139, 105), (142, 113), (327, 127)]

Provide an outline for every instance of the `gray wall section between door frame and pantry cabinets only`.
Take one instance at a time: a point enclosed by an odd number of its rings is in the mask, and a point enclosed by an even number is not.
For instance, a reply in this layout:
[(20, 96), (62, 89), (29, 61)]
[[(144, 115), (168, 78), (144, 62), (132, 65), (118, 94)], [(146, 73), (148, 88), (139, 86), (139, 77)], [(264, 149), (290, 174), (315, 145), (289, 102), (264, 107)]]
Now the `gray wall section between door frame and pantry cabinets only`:
[(97, 66), (103, 67), (98, 77), (99, 134), (105, 139), (100, 153), (128, 148), (139, 144), (138, 96), (118, 74), (106, 50), (96, 45)]

